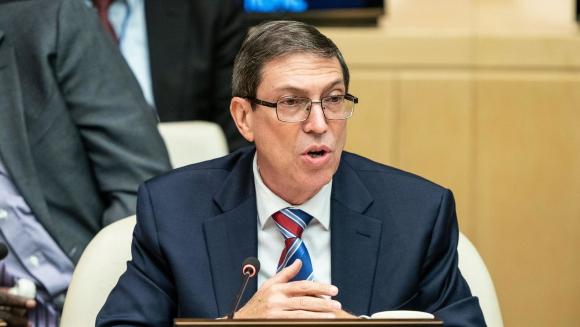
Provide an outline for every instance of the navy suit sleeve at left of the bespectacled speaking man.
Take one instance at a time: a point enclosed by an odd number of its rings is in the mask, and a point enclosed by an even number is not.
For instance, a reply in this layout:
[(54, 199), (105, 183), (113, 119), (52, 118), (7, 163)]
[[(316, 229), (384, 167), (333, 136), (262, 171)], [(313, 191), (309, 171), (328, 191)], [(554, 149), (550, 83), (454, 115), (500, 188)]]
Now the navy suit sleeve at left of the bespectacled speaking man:
[(172, 326), (177, 295), (159, 245), (146, 184), (139, 189), (131, 255), (132, 261), (99, 312), (96, 326)]

